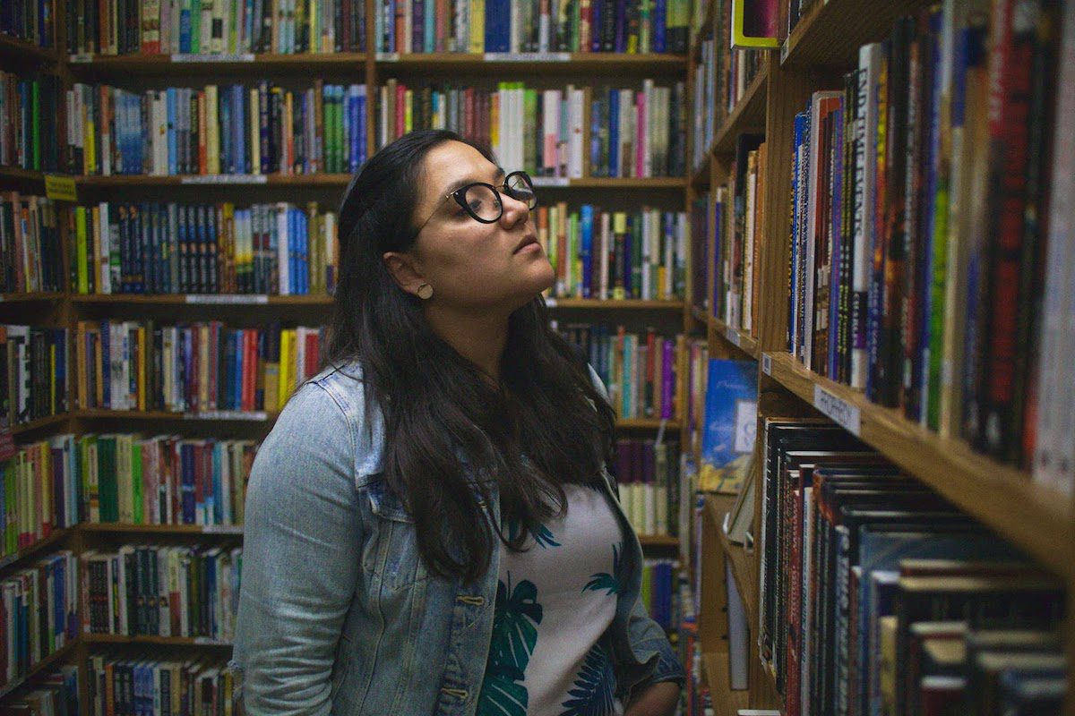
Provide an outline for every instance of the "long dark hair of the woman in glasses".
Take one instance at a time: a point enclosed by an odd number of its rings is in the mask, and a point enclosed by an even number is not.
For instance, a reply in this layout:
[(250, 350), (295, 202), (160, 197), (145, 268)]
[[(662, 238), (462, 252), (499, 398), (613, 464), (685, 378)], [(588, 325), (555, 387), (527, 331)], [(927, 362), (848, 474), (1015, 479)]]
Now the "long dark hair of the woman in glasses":
[[(471, 144), (454, 132), (412, 132), (347, 188), (326, 357), (362, 367), (367, 408), (384, 415), (385, 480), (414, 518), (427, 568), (473, 582), (498, 540), (522, 549), (562, 512), (563, 484), (600, 484), (614, 415), (585, 361), (549, 326), (541, 296), (508, 319), (498, 389), (433, 333), (420, 299), (389, 274), (384, 252), (406, 251), (416, 238), (424, 159), (448, 141)], [(502, 517), (524, 529), (491, 524), (484, 507), (493, 489)]]

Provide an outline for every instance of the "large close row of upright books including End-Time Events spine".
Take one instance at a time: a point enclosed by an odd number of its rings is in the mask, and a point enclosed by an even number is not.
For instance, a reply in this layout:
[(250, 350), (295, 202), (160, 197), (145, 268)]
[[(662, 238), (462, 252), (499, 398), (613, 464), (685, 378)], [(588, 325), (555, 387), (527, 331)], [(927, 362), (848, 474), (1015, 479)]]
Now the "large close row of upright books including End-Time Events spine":
[[(1049, 210), (1071, 166), (1051, 159), (1057, 13), (969, 1), (899, 19), (843, 91), (814, 93), (792, 157), (791, 352), (1023, 465), (1046, 239), (1069, 211)], [(1063, 31), (1072, 42), (1075, 21)]]

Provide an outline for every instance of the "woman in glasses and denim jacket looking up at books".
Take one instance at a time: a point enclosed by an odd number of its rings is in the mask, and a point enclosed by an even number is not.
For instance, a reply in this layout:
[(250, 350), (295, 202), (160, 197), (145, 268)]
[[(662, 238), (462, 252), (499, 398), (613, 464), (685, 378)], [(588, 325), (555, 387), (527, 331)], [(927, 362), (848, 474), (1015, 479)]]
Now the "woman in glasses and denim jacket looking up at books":
[(347, 189), (330, 367), (247, 492), (248, 714), (675, 711), (683, 672), (603, 467), (613, 412), (548, 326), (534, 204), (444, 131)]

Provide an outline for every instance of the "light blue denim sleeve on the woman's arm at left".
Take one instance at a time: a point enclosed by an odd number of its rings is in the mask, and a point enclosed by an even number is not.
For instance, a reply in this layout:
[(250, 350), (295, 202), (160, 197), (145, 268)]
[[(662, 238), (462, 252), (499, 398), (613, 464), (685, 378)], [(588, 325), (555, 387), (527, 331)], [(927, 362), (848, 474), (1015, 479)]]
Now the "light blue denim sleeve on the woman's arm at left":
[(307, 383), (255, 458), (231, 662), (249, 715), (330, 711), (332, 666), (360, 569), (355, 435), (335, 400)]

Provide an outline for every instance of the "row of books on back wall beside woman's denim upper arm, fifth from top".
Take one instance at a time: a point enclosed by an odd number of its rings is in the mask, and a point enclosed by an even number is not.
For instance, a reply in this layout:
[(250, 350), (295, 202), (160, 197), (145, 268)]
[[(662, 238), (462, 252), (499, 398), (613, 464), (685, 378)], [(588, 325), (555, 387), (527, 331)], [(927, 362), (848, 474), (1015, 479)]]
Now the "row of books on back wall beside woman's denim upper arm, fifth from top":
[(64, 436), (90, 523), (235, 526), (257, 443), (138, 434)]

